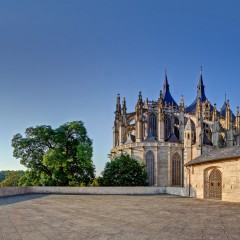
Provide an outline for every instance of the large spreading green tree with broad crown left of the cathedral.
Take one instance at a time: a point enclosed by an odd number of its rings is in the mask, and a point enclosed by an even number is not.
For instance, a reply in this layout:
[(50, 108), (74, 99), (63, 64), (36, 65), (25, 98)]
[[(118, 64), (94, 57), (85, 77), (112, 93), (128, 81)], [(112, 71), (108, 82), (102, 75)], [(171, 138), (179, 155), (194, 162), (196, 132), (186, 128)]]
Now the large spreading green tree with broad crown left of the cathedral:
[(92, 141), (81, 121), (69, 122), (57, 129), (37, 126), (26, 129), (26, 137), (16, 134), (13, 156), (28, 171), (21, 185), (80, 186), (94, 180)]

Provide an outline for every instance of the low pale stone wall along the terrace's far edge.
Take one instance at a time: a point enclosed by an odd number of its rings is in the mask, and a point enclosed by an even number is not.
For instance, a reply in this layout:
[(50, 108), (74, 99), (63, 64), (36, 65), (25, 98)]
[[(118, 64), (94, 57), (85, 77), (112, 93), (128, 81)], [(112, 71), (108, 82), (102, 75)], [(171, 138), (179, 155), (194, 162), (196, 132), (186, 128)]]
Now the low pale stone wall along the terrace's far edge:
[(154, 195), (172, 194), (185, 196), (179, 187), (1, 187), (0, 197), (21, 194), (94, 194), (94, 195)]

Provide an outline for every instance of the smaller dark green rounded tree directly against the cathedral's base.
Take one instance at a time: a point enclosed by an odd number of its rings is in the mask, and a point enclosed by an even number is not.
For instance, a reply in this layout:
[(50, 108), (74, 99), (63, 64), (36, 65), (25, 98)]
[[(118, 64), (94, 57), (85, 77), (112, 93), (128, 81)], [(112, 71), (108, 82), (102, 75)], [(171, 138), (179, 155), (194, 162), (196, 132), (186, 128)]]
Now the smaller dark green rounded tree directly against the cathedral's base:
[(99, 183), (101, 186), (146, 186), (145, 166), (129, 155), (121, 155), (106, 163)]

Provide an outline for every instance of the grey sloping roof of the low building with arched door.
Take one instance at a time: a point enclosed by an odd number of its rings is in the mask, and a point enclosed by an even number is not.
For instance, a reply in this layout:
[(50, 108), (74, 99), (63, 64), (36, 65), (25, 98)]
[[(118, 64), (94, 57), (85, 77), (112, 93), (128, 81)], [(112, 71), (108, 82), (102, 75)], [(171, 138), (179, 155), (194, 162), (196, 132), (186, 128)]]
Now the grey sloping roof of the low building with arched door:
[(192, 161), (185, 164), (185, 166), (191, 166), (206, 162), (214, 162), (220, 160), (226, 160), (231, 158), (240, 158), (240, 146), (226, 147), (220, 149), (214, 149), (206, 154), (203, 154)]

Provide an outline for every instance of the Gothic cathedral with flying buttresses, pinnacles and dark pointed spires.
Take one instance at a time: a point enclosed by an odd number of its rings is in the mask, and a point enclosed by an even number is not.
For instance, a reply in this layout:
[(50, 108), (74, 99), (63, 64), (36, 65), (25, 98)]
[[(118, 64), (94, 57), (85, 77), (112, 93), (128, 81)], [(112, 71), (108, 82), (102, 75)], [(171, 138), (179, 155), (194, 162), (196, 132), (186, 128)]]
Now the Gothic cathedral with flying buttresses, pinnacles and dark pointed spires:
[(188, 188), (188, 169), (184, 167), (215, 148), (240, 143), (239, 109), (233, 114), (229, 100), (217, 110), (205, 95), (202, 69), (197, 96), (188, 107), (183, 96), (173, 99), (167, 73), (157, 101), (145, 101), (141, 92), (134, 112), (127, 112), (117, 96), (110, 157), (127, 153), (143, 162), (152, 186)]

